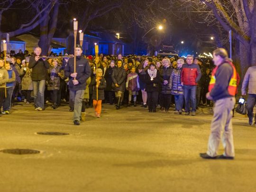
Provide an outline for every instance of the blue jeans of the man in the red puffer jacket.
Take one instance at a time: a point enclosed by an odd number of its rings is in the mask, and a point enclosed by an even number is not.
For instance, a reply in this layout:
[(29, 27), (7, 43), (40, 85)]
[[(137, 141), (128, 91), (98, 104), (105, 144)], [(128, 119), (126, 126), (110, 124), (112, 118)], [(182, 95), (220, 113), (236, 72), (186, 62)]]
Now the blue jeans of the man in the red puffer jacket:
[(196, 111), (196, 85), (184, 85), (185, 110), (190, 112), (190, 101), (192, 111)]

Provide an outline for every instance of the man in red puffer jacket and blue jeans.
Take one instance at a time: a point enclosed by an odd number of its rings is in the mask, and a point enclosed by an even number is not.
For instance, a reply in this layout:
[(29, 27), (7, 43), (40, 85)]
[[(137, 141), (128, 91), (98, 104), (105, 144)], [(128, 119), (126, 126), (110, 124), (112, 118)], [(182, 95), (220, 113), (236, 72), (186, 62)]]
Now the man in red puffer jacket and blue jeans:
[(190, 101), (192, 105), (192, 116), (195, 116), (196, 111), (196, 86), (201, 78), (201, 70), (198, 65), (193, 64), (193, 56), (188, 55), (187, 63), (183, 65), (181, 81), (184, 90), (185, 99), (185, 115), (190, 114)]

